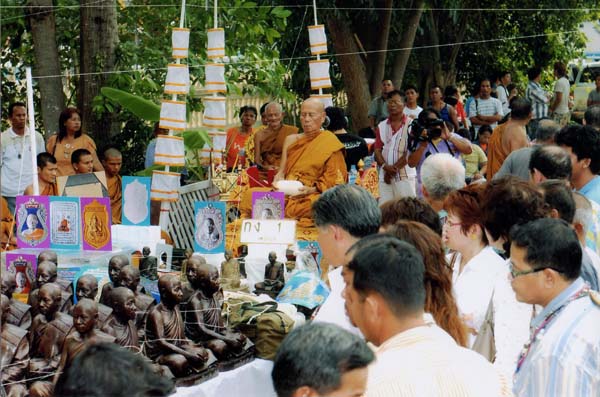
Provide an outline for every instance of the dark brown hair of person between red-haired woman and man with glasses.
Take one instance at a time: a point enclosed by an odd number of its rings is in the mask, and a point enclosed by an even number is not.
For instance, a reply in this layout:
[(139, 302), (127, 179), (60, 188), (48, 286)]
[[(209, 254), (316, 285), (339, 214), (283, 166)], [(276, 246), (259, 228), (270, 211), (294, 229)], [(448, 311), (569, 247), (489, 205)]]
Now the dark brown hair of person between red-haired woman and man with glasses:
[(542, 193), (529, 181), (505, 176), (489, 182), (481, 202), (483, 224), (493, 240), (503, 238), (504, 250), (510, 252), (510, 229), (514, 225), (547, 215)]

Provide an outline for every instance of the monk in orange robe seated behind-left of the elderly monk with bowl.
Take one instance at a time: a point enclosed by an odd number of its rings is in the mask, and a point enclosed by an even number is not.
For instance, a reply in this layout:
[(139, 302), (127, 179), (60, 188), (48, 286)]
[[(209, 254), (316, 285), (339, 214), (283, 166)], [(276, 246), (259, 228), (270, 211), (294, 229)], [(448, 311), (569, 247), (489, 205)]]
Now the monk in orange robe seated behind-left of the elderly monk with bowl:
[(276, 170), (281, 162), (281, 152), (285, 139), (298, 133), (298, 128), (283, 124), (283, 110), (277, 102), (266, 108), (267, 127), (254, 135), (254, 162), (261, 169)]

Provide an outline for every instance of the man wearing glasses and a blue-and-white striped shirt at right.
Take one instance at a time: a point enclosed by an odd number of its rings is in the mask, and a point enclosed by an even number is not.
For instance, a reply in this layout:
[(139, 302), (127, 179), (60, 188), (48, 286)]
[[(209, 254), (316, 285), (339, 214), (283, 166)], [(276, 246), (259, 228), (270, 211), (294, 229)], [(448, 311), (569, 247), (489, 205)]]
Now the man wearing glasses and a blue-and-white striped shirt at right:
[(515, 371), (515, 396), (600, 394), (600, 296), (581, 279), (581, 246), (569, 225), (543, 218), (514, 229), (511, 285), (543, 306)]

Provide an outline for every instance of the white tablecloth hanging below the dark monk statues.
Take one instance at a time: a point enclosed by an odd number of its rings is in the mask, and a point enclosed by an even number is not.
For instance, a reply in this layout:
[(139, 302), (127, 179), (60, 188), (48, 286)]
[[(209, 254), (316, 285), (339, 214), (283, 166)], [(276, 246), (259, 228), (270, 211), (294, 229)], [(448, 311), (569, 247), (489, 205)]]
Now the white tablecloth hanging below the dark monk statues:
[(273, 362), (254, 359), (216, 378), (190, 387), (178, 387), (176, 397), (277, 397), (271, 381)]

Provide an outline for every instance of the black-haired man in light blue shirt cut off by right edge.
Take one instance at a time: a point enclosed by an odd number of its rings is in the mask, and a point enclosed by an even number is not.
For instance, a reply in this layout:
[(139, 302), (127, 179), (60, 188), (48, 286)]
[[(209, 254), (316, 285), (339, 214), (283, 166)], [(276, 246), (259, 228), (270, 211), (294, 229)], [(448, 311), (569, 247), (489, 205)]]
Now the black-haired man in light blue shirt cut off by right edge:
[(570, 125), (556, 135), (556, 144), (571, 155), (571, 185), (600, 204), (600, 134), (590, 126)]

